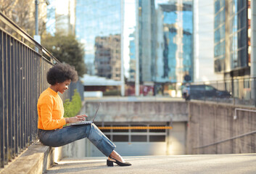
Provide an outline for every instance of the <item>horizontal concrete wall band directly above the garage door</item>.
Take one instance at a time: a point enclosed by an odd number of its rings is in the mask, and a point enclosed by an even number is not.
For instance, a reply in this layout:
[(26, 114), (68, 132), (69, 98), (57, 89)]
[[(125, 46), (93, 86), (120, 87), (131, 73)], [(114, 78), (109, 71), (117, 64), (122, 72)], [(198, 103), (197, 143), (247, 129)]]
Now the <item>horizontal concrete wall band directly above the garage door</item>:
[(96, 122), (186, 122), (188, 107), (184, 101), (86, 101), (88, 119), (99, 108)]

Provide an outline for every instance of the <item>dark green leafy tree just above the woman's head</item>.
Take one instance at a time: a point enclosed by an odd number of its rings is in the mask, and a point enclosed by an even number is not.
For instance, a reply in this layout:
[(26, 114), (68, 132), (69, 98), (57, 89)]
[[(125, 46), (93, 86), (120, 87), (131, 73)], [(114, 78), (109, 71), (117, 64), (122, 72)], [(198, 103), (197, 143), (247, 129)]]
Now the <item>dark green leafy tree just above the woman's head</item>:
[(83, 60), (83, 44), (78, 42), (74, 35), (69, 34), (66, 36), (61, 33), (55, 33), (55, 36), (51, 36), (46, 34), (41, 38), (41, 43), (60, 62), (73, 65), (80, 77), (86, 73), (86, 64)]

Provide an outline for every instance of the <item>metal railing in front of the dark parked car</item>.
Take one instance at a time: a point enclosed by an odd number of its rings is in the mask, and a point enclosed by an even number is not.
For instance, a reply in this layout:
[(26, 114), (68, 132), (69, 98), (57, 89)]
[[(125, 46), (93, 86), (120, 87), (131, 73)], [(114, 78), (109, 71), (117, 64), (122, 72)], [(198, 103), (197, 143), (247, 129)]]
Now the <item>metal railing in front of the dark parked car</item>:
[[(191, 86), (200, 86), (201, 89), (200, 93), (196, 92), (195, 94), (192, 94), (191, 89), (191, 99), (256, 107), (256, 78), (194, 82), (191, 83)], [(212, 90), (211, 87), (215, 89)]]

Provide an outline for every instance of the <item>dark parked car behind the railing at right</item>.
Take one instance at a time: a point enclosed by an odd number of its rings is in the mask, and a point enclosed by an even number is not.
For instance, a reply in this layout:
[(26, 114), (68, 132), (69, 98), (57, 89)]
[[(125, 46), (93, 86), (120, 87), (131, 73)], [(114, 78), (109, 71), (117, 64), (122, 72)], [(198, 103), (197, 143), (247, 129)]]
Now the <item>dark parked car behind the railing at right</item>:
[(210, 85), (190, 85), (183, 88), (183, 99), (229, 98), (228, 91), (220, 91)]

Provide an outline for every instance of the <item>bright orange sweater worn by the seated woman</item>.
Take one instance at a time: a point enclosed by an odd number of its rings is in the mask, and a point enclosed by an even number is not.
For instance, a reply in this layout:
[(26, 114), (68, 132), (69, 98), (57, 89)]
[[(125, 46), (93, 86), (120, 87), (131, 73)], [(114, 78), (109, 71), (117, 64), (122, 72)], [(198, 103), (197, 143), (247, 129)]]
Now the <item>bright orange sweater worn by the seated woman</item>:
[(37, 109), (39, 129), (54, 130), (63, 128), (66, 124), (62, 99), (51, 88), (47, 88), (39, 96)]

